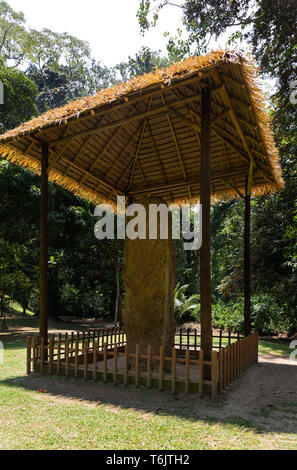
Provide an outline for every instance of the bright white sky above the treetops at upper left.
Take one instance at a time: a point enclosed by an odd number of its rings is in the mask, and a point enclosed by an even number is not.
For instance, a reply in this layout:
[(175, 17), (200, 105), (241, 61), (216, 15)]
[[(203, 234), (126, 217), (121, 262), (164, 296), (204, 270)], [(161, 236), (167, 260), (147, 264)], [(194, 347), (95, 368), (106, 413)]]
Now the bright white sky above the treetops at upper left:
[(127, 60), (142, 46), (165, 52), (163, 32), (174, 33), (181, 19), (179, 8), (168, 7), (158, 27), (143, 37), (136, 18), (138, 0), (8, 0), (8, 3), (23, 11), (28, 26), (68, 32), (88, 41), (93, 57), (107, 66)]

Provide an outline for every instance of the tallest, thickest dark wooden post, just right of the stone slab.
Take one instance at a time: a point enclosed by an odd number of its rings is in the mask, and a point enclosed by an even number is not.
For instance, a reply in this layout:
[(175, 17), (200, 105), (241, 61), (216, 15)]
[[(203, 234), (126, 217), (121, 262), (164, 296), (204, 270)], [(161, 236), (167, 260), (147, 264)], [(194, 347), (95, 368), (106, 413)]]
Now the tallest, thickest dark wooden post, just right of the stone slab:
[[(201, 349), (204, 360), (211, 360), (211, 268), (210, 268), (210, 109), (211, 92), (202, 89), (200, 203), (202, 204), (202, 246), (200, 248)], [(204, 378), (211, 378), (211, 368), (204, 367)]]

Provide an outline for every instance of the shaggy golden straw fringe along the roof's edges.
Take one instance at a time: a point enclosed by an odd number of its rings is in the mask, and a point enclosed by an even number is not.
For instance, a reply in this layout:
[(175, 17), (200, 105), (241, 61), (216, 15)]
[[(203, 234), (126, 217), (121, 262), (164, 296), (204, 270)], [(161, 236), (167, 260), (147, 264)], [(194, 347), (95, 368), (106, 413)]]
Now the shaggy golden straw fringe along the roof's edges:
[[(0, 136), (0, 152), (4, 158), (16, 163), (20, 166), (26, 167), (33, 171), (35, 174), (40, 174), (40, 161), (31, 155), (25, 155), (21, 150), (16, 149), (14, 146), (15, 139), (34, 132), (42, 132), (43, 129), (50, 126), (57, 126), (69, 122), (69, 120), (79, 119), (83, 114), (97, 111), (106, 105), (112, 103), (123, 102), (124, 98), (138, 92), (138, 96), (148, 87), (156, 85), (170, 86), (173, 82), (181, 80), (186, 76), (192, 76), (199, 72), (205, 72), (213, 67), (224, 63), (233, 63), (240, 66), (242, 78), (249, 93), (250, 104), (253, 109), (255, 120), (260, 132), (264, 151), (263, 157), (266, 164), (270, 167), (269, 173), (275, 181), (272, 183), (262, 183), (260, 186), (253, 185), (252, 195), (258, 196), (274, 192), (284, 186), (282, 179), (282, 171), (278, 160), (278, 150), (275, 146), (273, 134), (270, 128), (270, 119), (263, 103), (263, 93), (260, 89), (259, 75), (254, 61), (243, 56), (236, 51), (215, 51), (205, 56), (195, 56), (184, 60), (181, 63), (174, 64), (167, 69), (156, 70), (155, 72), (133, 78), (127, 83), (121, 83), (107, 90), (99, 91), (91, 97), (86, 97), (63, 106), (61, 108), (51, 109), (42, 116), (39, 116), (27, 123), (22, 124), (14, 130), (8, 131)], [(2, 142), (2, 144), (1, 144)], [(265, 155), (266, 153), (266, 155)], [(111, 205), (116, 210), (116, 203), (111, 199), (105, 199), (97, 192), (92, 191), (84, 185), (80, 185), (77, 181), (67, 175), (63, 175), (60, 171), (52, 169), (49, 173), (49, 180), (57, 183), (74, 194), (91, 201), (94, 204)], [(237, 188), (244, 192), (245, 188)], [(148, 189), (149, 193), (149, 189)], [(222, 199), (230, 199), (238, 197), (235, 191), (227, 188), (223, 191), (216, 191), (212, 196), (212, 200), (218, 201)], [(184, 203), (197, 203), (199, 198), (193, 199), (186, 198), (174, 201), (176, 204), (182, 205)]]

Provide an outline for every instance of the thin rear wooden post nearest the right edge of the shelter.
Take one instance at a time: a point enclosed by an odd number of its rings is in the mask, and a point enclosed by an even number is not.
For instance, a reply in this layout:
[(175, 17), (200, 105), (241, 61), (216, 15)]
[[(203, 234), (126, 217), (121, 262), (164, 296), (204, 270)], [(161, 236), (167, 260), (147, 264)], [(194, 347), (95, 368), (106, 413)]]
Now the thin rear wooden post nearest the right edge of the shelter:
[(246, 182), (244, 216), (244, 334), (251, 334), (251, 193)]

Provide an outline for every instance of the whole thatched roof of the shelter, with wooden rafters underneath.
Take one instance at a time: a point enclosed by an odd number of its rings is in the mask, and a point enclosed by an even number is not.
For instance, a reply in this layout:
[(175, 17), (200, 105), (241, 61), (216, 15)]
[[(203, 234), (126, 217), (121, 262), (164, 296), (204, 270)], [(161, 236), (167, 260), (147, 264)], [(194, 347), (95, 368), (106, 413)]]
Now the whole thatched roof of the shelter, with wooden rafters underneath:
[(243, 191), (253, 162), (253, 194), (283, 186), (278, 152), (251, 59), (234, 51), (191, 57), (96, 95), (47, 111), (0, 136), (0, 152), (95, 203), (199, 200), (201, 89), (212, 90), (213, 198)]

